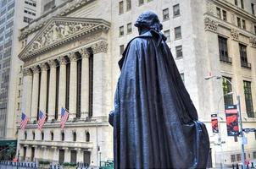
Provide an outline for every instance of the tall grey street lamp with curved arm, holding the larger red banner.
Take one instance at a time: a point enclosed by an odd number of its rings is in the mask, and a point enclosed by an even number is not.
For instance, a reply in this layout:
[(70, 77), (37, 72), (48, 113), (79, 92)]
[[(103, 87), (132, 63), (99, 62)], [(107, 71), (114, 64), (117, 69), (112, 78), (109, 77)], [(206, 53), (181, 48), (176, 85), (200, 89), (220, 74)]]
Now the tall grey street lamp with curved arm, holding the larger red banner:
[[(205, 77), (204, 79), (206, 80), (209, 80), (209, 79), (213, 79), (213, 78), (216, 78), (216, 79), (225, 79), (232, 87), (232, 90), (235, 91), (235, 94), (237, 95), (237, 92), (236, 90), (234, 89), (234, 86), (233, 84), (231, 83), (231, 80), (229, 79), (226, 79), (225, 77), (223, 76), (208, 76), (208, 77)], [(219, 101), (220, 103), (220, 101)], [(219, 103), (218, 103), (218, 109), (219, 109)], [(240, 95), (237, 95), (237, 112), (238, 112), (238, 116), (239, 116), (239, 125), (240, 125), (240, 134), (241, 134), (241, 138), (242, 138), (242, 141), (241, 141), (241, 147), (242, 147), (242, 168), (245, 168), (245, 159), (244, 159), (244, 134), (243, 134), (243, 131), (242, 131), (242, 115), (241, 115), (241, 102), (240, 102)], [(218, 110), (219, 111), (219, 110)], [(219, 112), (218, 112), (218, 118), (219, 118)], [(220, 132), (220, 130), (219, 130)]]

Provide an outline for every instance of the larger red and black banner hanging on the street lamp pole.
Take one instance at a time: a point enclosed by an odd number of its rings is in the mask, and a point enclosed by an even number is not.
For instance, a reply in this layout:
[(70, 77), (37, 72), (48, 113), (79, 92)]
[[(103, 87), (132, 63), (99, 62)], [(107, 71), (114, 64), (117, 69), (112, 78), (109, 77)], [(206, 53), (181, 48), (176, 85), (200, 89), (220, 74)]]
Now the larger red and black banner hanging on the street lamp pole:
[(226, 128), (228, 136), (239, 135), (237, 105), (225, 106)]

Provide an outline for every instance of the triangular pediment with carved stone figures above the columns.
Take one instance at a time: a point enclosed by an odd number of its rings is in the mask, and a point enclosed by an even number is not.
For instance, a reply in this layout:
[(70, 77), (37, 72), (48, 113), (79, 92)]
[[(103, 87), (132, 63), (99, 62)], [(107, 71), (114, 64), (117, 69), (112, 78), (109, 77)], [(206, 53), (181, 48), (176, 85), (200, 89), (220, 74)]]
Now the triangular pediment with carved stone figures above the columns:
[(19, 53), (19, 58), (25, 60), (38, 53), (72, 41), (81, 35), (93, 31), (108, 31), (110, 23), (103, 19), (79, 19), (54, 17), (40, 30), (31, 42)]

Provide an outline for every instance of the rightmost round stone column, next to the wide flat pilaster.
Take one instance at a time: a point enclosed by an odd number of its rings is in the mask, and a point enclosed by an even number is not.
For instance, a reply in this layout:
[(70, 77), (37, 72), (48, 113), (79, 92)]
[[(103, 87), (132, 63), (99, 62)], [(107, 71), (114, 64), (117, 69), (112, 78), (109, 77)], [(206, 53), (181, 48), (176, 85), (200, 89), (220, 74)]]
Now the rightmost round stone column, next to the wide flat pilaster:
[(89, 114), (89, 53), (81, 49), (81, 118), (85, 119)]

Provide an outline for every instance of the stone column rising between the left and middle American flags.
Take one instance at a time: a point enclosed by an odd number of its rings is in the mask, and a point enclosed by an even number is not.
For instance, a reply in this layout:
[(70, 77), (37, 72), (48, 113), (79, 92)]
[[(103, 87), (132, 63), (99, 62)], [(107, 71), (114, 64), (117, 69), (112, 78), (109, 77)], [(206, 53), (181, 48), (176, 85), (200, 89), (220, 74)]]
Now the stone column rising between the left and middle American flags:
[(39, 90), (39, 71), (37, 66), (32, 67), (33, 71), (33, 87), (32, 87), (32, 101), (31, 101), (31, 122), (37, 119), (38, 106), (38, 90)]

